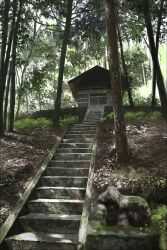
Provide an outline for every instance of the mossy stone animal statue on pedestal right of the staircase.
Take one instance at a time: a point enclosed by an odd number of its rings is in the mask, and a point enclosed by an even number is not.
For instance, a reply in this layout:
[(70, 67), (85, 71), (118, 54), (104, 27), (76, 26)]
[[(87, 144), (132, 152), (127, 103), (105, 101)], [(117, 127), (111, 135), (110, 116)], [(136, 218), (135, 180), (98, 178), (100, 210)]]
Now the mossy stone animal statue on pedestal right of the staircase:
[(99, 203), (106, 207), (107, 225), (143, 227), (151, 224), (151, 211), (142, 197), (122, 195), (116, 187), (109, 186), (99, 196)]

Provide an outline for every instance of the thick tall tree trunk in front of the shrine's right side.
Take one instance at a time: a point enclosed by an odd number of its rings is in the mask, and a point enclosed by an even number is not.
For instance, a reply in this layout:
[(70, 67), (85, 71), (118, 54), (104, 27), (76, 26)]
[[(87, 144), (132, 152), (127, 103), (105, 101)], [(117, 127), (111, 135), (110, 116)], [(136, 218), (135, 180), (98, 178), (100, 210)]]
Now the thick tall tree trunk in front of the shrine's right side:
[(122, 105), (122, 86), (118, 52), (117, 18), (114, 0), (105, 0), (108, 33), (108, 58), (114, 111), (115, 143), (118, 163), (126, 164), (129, 159), (126, 126)]

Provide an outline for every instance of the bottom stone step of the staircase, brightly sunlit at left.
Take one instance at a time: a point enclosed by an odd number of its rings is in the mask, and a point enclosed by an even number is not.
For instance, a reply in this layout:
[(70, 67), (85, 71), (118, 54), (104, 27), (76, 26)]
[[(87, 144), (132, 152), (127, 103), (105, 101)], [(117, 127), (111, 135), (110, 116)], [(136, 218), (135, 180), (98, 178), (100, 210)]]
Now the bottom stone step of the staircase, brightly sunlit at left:
[(77, 234), (23, 233), (7, 238), (12, 250), (76, 250)]

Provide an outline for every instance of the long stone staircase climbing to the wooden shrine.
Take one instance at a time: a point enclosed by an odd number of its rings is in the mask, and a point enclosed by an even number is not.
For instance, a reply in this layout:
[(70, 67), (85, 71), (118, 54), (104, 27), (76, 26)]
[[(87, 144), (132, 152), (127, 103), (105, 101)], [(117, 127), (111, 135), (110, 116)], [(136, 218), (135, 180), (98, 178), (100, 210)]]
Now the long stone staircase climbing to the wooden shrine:
[(24, 232), (6, 238), (11, 250), (76, 250), (92, 146), (101, 111), (73, 125), (19, 217)]

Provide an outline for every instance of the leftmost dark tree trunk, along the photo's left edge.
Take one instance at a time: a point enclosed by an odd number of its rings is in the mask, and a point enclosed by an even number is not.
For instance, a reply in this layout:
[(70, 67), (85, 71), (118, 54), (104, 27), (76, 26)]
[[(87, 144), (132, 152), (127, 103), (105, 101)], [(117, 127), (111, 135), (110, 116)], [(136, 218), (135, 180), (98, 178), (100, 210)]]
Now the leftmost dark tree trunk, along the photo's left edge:
[(2, 43), (1, 43), (1, 62), (0, 62), (0, 137), (4, 135), (4, 122), (3, 122), (3, 100), (5, 92), (4, 77), (4, 63), (5, 52), (8, 35), (8, 22), (9, 22), (9, 8), (10, 0), (5, 0), (4, 9), (2, 13)]

